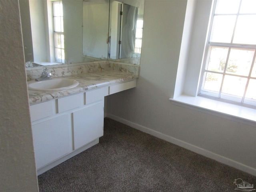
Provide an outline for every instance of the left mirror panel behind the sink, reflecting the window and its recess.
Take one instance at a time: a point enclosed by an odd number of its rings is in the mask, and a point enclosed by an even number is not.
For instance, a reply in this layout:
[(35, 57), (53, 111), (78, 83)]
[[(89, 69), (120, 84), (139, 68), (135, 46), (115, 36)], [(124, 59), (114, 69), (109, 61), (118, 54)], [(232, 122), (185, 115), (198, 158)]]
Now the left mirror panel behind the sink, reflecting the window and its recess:
[[(19, 2), (26, 62), (45, 66), (83, 61), (82, 0)], [(106, 10), (104, 18), (108, 26), (108, 6)], [(102, 32), (104, 39), (107, 31)], [(104, 45), (107, 47), (105, 42)], [(107, 48), (104, 50), (106, 52)]]

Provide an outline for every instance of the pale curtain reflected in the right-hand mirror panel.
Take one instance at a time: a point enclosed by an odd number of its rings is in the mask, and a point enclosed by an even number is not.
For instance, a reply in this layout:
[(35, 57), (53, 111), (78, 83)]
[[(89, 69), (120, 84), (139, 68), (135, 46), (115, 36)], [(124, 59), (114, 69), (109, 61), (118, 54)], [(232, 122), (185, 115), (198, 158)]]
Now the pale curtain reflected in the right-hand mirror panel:
[(130, 6), (127, 22), (122, 28), (121, 58), (131, 58), (134, 54), (137, 17), (138, 8)]

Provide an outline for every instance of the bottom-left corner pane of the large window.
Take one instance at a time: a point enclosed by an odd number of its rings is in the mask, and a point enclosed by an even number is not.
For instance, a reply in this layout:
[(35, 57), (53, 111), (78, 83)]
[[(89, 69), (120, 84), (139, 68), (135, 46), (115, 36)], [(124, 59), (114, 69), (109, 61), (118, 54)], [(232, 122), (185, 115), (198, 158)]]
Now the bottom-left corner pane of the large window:
[(206, 72), (203, 89), (219, 92), (221, 81), (222, 81), (222, 74)]

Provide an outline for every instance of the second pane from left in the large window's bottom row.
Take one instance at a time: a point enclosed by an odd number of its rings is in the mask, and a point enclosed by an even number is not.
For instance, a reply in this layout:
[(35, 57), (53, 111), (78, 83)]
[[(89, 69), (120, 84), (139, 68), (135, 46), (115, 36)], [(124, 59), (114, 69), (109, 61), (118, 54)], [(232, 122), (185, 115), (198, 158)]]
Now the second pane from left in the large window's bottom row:
[(222, 93), (243, 96), (246, 86), (247, 78), (225, 75), (222, 85)]

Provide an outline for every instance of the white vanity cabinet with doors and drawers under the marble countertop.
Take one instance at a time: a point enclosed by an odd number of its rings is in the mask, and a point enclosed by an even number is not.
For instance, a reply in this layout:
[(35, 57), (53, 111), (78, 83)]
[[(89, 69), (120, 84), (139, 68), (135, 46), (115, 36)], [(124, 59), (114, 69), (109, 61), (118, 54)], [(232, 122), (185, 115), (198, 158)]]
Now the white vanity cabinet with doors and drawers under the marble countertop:
[(38, 174), (90, 148), (103, 136), (104, 97), (136, 86), (136, 80), (30, 106)]

